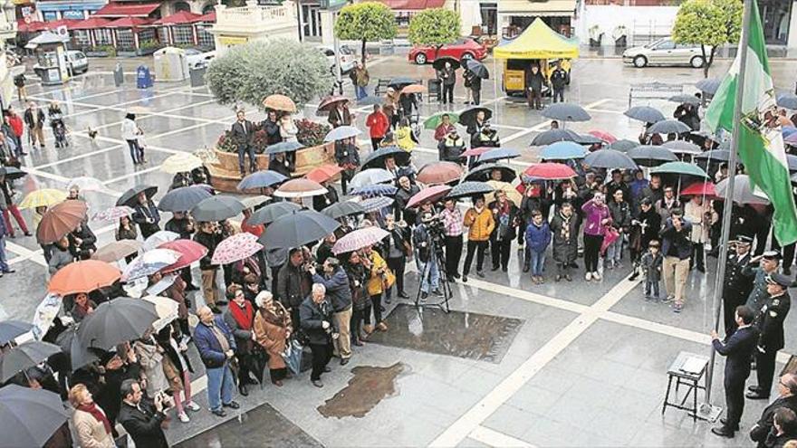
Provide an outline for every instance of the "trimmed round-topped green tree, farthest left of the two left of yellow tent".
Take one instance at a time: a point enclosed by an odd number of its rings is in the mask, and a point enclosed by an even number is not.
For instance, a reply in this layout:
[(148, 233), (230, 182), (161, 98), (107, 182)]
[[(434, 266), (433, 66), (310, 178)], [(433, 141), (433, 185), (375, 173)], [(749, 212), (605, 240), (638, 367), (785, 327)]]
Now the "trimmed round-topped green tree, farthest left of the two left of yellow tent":
[(362, 43), (362, 63), (365, 63), (365, 43), (393, 39), (397, 32), (393, 10), (383, 3), (346, 5), (335, 19), (335, 36), (338, 39)]

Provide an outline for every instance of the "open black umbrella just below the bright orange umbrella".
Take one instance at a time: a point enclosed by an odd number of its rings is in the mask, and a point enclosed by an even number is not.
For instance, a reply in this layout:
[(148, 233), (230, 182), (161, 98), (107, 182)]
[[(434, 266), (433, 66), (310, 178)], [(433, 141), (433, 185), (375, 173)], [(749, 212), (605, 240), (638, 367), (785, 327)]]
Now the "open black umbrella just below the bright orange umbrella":
[(120, 297), (101, 303), (83, 318), (77, 338), (83, 348), (110, 350), (122, 342), (140, 338), (158, 319), (154, 303)]

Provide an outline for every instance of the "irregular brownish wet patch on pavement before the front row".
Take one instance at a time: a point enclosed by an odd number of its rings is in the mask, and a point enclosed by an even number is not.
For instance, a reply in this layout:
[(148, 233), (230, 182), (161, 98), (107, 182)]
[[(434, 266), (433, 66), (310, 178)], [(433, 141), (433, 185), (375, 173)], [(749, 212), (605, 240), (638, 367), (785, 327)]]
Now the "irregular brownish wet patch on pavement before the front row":
[(327, 418), (362, 418), (385, 397), (396, 394), (396, 378), (404, 370), (400, 362), (390, 367), (354, 367), (349, 386), (318, 406), (318, 412)]

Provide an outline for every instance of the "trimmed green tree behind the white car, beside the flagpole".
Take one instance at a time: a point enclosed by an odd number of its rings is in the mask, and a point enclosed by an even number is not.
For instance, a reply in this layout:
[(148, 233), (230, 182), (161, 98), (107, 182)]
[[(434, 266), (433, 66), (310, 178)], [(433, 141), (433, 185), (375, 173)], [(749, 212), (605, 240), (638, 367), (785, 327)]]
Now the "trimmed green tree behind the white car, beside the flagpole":
[[(678, 8), (673, 25), (676, 43), (700, 45), (703, 75), (714, 62), (716, 49), (725, 43), (738, 43), (742, 34), (741, 0), (687, 0)], [(706, 53), (706, 47), (711, 49)]]

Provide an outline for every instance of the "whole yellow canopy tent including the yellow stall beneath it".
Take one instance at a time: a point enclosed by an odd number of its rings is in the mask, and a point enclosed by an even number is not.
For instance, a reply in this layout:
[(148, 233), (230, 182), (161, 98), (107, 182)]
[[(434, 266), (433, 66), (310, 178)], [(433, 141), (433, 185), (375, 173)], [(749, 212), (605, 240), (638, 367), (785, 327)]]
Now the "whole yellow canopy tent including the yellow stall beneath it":
[(502, 43), (493, 50), (495, 59), (504, 60), (504, 91), (507, 95), (526, 94), (526, 72), (533, 65), (540, 67), (546, 80), (562, 63), (570, 83), (571, 60), (579, 57), (579, 43), (556, 33), (537, 18), (519, 36), (508, 43)]

